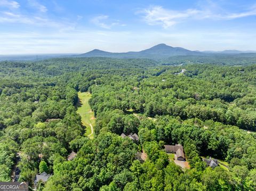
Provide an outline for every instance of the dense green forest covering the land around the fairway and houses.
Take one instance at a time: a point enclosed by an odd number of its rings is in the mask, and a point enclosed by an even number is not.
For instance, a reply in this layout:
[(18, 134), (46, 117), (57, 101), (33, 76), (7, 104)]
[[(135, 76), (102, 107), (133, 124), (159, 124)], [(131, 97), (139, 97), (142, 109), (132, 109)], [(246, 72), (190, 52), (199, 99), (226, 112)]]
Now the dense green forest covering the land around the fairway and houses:
[[(19, 169), (31, 190), (256, 190), (255, 58), (213, 61), (0, 62), (0, 181)], [(76, 112), (79, 91), (92, 94), (93, 139)], [(178, 143), (189, 169), (164, 151)], [(227, 167), (207, 167), (210, 156)], [(52, 176), (35, 185), (43, 171)]]

